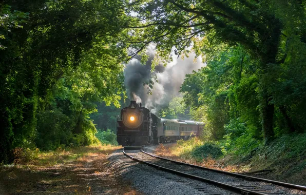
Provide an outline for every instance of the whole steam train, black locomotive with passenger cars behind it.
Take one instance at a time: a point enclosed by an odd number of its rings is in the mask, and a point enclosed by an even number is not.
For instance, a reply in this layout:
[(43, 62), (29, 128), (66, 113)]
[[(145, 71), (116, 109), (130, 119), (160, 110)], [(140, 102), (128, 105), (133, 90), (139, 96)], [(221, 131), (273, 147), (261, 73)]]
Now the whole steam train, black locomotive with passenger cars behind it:
[(117, 120), (117, 141), (124, 147), (141, 147), (147, 144), (187, 140), (202, 133), (204, 123), (158, 118), (141, 103), (131, 101), (121, 110)]

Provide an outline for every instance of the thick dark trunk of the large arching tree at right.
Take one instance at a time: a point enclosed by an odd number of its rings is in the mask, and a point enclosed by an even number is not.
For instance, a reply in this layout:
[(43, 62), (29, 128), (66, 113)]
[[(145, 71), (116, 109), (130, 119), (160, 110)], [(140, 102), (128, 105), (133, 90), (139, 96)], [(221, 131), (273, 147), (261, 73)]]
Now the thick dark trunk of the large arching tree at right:
[(264, 134), (264, 142), (268, 144), (274, 136), (273, 131), (273, 115), (274, 115), (274, 104), (269, 104), (271, 98), (268, 97), (267, 92), (263, 92), (263, 103), (262, 103), (262, 130)]

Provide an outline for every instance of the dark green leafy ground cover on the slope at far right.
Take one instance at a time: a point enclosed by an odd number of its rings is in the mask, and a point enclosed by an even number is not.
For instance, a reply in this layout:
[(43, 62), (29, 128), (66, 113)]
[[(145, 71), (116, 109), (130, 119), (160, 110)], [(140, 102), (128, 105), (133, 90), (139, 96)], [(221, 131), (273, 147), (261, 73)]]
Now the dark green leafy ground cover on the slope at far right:
[(252, 170), (273, 169), (277, 178), (304, 185), (305, 142), (305, 133), (283, 134), (273, 140), (269, 146), (260, 143), (251, 152), (244, 150), (244, 153), (240, 152), (238, 156), (228, 153), (228, 156), (232, 157), (229, 163), (248, 162)]

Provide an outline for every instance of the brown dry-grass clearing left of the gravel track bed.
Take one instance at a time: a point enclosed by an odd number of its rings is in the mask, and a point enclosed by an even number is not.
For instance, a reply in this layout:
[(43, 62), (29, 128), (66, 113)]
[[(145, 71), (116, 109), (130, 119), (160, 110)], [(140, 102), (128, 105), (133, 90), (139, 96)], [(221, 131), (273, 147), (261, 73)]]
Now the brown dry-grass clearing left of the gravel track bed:
[(108, 167), (120, 147), (87, 146), (40, 152), (26, 164), (0, 169), (1, 194), (140, 194)]

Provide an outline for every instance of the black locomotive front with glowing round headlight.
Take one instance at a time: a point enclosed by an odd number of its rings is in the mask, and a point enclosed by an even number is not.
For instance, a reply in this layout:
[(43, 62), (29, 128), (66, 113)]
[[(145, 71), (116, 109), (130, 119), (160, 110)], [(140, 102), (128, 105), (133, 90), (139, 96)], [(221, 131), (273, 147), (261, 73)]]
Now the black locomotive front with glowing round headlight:
[(136, 101), (121, 110), (117, 123), (117, 141), (124, 147), (150, 144), (157, 136), (157, 117)]

